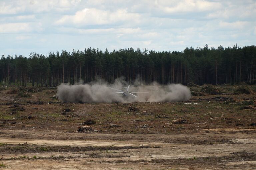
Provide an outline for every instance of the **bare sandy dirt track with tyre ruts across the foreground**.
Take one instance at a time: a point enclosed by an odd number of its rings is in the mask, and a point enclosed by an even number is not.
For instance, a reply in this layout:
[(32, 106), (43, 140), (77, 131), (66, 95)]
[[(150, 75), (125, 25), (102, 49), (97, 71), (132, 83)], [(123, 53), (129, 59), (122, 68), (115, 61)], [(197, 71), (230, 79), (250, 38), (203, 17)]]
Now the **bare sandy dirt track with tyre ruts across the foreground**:
[[(61, 146), (70, 147), (87, 146), (118, 146), (117, 150), (96, 150), (87, 152), (52, 152), (42, 153), (16, 153), (2, 152), (1, 162), (7, 169), (253, 169), (256, 167), (256, 137), (255, 130), (244, 129), (252, 134), (237, 132), (237, 129), (208, 129), (215, 133), (201, 134), (155, 134), (155, 135), (127, 135), (127, 134), (81, 134), (56, 132), (55, 135), (69, 137), (69, 140), (51, 140), (43, 131), (31, 131), (29, 134), (34, 139), (20, 139), (20, 135), (27, 131), (3, 130), (0, 143), (23, 144), (26, 146)], [(240, 129), (241, 130), (241, 129)], [(224, 132), (221, 133), (220, 131)], [(51, 131), (54, 135), (54, 131)], [(88, 140), (70, 140), (78, 135), (87, 137)], [(225, 135), (229, 140), (222, 144), (194, 144), (193, 142), (180, 143), (189, 139), (196, 141), (203, 139), (220, 138)], [(45, 139), (38, 139), (45, 136)], [(118, 137), (126, 140), (113, 140)], [(151, 140), (152, 138), (155, 140)], [(10, 138), (11, 137), (11, 138)], [(162, 139), (162, 138), (164, 139)], [(99, 139), (99, 138), (103, 138)], [(112, 138), (112, 140), (111, 140)], [(95, 140), (92, 140), (95, 139)], [(120, 138), (121, 139), (121, 138)], [(143, 139), (143, 140), (141, 140)], [(176, 143), (167, 143), (166, 141)], [(183, 140), (182, 140), (183, 139)], [(204, 140), (205, 141), (205, 140)], [(29, 145), (27, 145), (29, 144)], [(140, 149), (122, 149), (124, 146), (149, 146)], [(6, 145), (9, 148), (13, 145)], [(23, 158), (26, 156), (26, 158)], [(36, 159), (33, 158), (36, 156)]]

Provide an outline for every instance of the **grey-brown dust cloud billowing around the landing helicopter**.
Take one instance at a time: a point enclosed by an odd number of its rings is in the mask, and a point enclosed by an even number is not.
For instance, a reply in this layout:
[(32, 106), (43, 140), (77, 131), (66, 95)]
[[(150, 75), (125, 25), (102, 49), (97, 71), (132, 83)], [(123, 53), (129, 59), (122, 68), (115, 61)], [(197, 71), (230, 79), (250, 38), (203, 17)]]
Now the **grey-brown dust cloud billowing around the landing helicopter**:
[(154, 82), (152, 85), (130, 86), (131, 92), (149, 92), (133, 93), (137, 97), (131, 95), (123, 97), (121, 93), (115, 93), (118, 91), (109, 88), (126, 91), (123, 88), (125, 85), (127, 86), (127, 82), (123, 79), (116, 79), (112, 85), (104, 81), (76, 85), (62, 83), (58, 86), (57, 96), (61, 101), (68, 103), (176, 102), (191, 98), (189, 88), (181, 84), (161, 86)]

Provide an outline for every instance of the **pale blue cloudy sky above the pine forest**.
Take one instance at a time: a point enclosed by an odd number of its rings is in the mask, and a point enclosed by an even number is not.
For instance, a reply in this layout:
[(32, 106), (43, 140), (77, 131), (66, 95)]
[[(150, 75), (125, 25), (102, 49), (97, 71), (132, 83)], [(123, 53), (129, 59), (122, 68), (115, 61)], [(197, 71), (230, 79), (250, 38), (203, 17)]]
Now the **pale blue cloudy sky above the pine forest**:
[(256, 0), (0, 0), (0, 55), (256, 45)]

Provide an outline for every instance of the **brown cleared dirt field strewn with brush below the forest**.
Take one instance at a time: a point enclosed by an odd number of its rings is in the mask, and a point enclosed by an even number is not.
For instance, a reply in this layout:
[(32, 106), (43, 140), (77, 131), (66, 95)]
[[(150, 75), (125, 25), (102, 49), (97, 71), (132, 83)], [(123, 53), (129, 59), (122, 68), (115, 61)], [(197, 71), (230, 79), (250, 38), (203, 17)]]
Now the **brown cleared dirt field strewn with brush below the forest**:
[(256, 169), (256, 86), (217, 88), (186, 102), (71, 104), (55, 88), (1, 87), (0, 169)]

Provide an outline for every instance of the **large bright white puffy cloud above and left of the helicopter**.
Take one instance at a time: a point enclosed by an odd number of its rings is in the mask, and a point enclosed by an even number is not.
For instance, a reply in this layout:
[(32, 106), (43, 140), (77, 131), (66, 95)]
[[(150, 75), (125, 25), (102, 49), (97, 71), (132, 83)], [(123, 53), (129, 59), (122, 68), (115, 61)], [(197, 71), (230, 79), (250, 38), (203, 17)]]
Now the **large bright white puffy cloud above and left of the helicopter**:
[(75, 15), (66, 15), (62, 17), (56, 24), (103, 25), (113, 24), (120, 21), (136, 22), (139, 18), (139, 14), (128, 13), (127, 9), (118, 9), (112, 12), (96, 8), (85, 8), (76, 12)]

